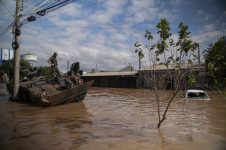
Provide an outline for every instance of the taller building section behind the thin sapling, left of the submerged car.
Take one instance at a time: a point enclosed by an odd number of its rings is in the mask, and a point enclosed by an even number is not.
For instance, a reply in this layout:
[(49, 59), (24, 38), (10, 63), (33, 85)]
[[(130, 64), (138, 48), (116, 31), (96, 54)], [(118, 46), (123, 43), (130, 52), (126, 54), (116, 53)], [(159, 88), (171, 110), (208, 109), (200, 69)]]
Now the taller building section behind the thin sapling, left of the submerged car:
[[(195, 76), (196, 84), (204, 85), (206, 83), (204, 65), (181, 64), (180, 67), (180, 86), (184, 88), (189, 86), (187, 81), (191, 74)], [(139, 70), (140, 87), (153, 89), (153, 75), (155, 75), (158, 89), (175, 89), (177, 82), (177, 77), (175, 76), (176, 71), (178, 71), (178, 68), (174, 65), (169, 65), (168, 67), (165, 65), (156, 65), (151, 68), (149, 67), (149, 69)]]

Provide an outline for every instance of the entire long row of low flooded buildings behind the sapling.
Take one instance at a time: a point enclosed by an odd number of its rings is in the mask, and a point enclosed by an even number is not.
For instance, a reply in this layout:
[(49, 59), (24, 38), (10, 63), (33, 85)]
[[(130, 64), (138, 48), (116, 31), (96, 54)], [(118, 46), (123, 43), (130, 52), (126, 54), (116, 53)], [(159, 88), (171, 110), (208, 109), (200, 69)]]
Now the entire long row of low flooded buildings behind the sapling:
[[(124, 70), (124, 69), (123, 69)], [(126, 69), (127, 70), (127, 69)], [(94, 80), (96, 87), (116, 87), (116, 88), (154, 88), (153, 73), (157, 81), (158, 89), (174, 89), (176, 78), (175, 67), (170, 65), (157, 65), (153, 69), (138, 71), (117, 71), (117, 72), (92, 72), (81, 76), (84, 81)], [(191, 66), (183, 64), (181, 66), (181, 86), (187, 87), (189, 75), (193, 73), (197, 84), (205, 84), (204, 66)]]

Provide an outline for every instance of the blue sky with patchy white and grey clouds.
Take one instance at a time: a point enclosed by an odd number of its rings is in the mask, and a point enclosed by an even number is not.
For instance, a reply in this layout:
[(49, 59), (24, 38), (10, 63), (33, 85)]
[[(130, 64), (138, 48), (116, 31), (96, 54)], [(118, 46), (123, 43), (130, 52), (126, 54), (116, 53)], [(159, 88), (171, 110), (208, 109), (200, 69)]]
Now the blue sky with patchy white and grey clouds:
[[(29, 16), (51, 1), (57, 0), (23, 0), (21, 14)], [(15, 0), (0, 0), (0, 33), (13, 21), (14, 13)], [(47, 59), (57, 52), (63, 72), (67, 61), (79, 61), (85, 71), (120, 70), (128, 64), (137, 69), (134, 43), (145, 43), (145, 30), (155, 36), (161, 18), (169, 21), (173, 34), (180, 22), (187, 24), (201, 51), (226, 35), (225, 0), (75, 0), (24, 23), (21, 54), (33, 53), (38, 56), (37, 65), (48, 65)], [(0, 47), (12, 49), (11, 42), (11, 30), (1, 35)], [(147, 57), (143, 66), (148, 65)]]

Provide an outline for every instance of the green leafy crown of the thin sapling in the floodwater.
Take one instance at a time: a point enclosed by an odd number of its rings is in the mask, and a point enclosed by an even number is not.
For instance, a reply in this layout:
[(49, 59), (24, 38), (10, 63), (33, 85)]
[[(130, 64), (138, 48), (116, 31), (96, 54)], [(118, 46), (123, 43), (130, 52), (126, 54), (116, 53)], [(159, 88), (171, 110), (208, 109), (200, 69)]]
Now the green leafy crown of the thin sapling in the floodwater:
[[(177, 42), (174, 42), (173, 38), (171, 37), (172, 34), (170, 32), (170, 24), (166, 19), (161, 19), (156, 28), (157, 34), (159, 35), (159, 41), (158, 43), (149, 46), (150, 52), (154, 52), (154, 62), (159, 62), (160, 58), (164, 57), (165, 61), (161, 62), (164, 62), (165, 66), (167, 67), (169, 66), (169, 64), (173, 64), (175, 66), (175, 69), (177, 70), (181, 69), (182, 63), (188, 62), (192, 65), (193, 60), (198, 58), (197, 54), (195, 53), (198, 44), (190, 39), (188, 25), (185, 25), (182, 22), (179, 24), (179, 37)], [(153, 39), (151, 32), (148, 30), (146, 30), (144, 37), (148, 41), (151, 41)], [(136, 45), (138, 44), (135, 44), (135, 46)], [(139, 44), (138, 47), (141, 48), (141, 44)], [(170, 53), (166, 55), (166, 53), (169, 51)], [(187, 58), (188, 54), (193, 56), (194, 59)]]

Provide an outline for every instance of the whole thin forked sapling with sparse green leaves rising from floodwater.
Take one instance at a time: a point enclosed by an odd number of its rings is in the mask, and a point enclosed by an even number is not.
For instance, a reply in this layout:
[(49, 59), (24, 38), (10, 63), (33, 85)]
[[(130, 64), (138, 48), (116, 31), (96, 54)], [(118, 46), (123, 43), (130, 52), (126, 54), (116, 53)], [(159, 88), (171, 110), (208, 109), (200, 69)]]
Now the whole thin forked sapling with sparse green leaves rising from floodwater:
[[(183, 88), (183, 79), (190, 72), (189, 70), (183, 70), (183, 65), (192, 65), (197, 59), (197, 43), (194, 43), (189, 37), (190, 32), (188, 32), (188, 26), (184, 23), (180, 23), (178, 26), (178, 39), (176, 42), (174, 42), (169, 23), (166, 19), (161, 19), (156, 27), (158, 42), (154, 43), (151, 32), (147, 30), (144, 37), (149, 41), (149, 45), (142, 46), (141, 44), (135, 44), (135, 47), (140, 50), (142, 50), (143, 47), (146, 47), (149, 50), (151, 70), (149, 76), (151, 76), (153, 81), (153, 90), (158, 108), (157, 128), (159, 128), (161, 123), (166, 119), (167, 111), (172, 101)], [(164, 74), (157, 74), (156, 68), (160, 62), (166, 67)], [(161, 116), (160, 100), (162, 95), (160, 95), (159, 89), (166, 89), (165, 81), (167, 78), (173, 82), (174, 86), (171, 87), (172, 95), (169, 97), (169, 101)]]

